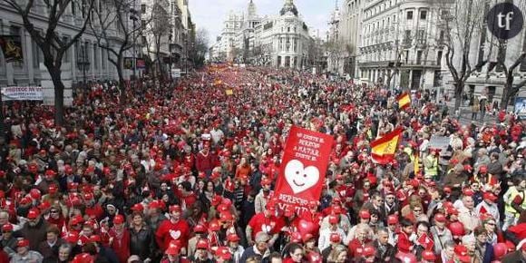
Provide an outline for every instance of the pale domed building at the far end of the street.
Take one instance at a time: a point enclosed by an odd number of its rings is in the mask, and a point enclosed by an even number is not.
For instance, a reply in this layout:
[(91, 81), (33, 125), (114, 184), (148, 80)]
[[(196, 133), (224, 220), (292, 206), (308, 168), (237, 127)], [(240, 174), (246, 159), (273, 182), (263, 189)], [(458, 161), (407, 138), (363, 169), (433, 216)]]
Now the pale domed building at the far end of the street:
[[(210, 49), (212, 60), (251, 62), (300, 69), (307, 64), (312, 38), (292, 0), (278, 15), (260, 17), (253, 0), (246, 15), (231, 12), (221, 35)], [(240, 58), (240, 59), (239, 59)]]

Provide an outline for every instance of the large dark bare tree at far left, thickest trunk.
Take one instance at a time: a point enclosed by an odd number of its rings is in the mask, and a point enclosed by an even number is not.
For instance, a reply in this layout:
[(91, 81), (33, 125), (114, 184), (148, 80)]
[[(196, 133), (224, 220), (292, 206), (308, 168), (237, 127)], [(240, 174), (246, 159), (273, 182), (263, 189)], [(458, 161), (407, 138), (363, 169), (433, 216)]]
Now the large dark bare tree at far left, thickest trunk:
[[(54, 84), (54, 121), (63, 125), (63, 90), (62, 63), (63, 56), (69, 48), (83, 35), (87, 25), (91, 22), (93, 0), (43, 0), (44, 8), (35, 5), (34, 0), (17, 1), (2, 0), (11, 6), (17, 15), (22, 18), (24, 29), (31, 35), (34, 43), (42, 50), (44, 66)], [(71, 38), (64, 38), (59, 34), (57, 27), (63, 21), (63, 15), (71, 8), (81, 10), (82, 15), (75, 17), (79, 27), (74, 30)], [(35, 26), (35, 14), (40, 13), (47, 17), (43, 31)], [(78, 19), (78, 20), (77, 20)]]

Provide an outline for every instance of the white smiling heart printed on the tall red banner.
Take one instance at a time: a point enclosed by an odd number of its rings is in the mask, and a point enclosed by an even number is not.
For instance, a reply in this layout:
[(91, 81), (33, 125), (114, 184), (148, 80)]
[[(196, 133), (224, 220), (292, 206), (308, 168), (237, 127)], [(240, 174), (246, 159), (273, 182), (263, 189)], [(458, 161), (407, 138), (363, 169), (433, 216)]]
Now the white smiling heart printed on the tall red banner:
[(301, 161), (291, 160), (285, 167), (285, 179), (292, 191), (297, 194), (317, 184), (319, 170), (314, 166), (304, 167)]

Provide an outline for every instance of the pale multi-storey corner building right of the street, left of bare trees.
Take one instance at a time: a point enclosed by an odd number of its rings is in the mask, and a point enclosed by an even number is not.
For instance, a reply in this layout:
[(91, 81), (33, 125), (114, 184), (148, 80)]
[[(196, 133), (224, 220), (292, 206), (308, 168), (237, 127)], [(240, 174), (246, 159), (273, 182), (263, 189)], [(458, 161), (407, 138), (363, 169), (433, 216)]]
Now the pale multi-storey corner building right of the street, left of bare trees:
[(438, 87), (440, 19), (440, 8), (431, 0), (365, 1), (358, 35), (360, 78), (412, 90)]

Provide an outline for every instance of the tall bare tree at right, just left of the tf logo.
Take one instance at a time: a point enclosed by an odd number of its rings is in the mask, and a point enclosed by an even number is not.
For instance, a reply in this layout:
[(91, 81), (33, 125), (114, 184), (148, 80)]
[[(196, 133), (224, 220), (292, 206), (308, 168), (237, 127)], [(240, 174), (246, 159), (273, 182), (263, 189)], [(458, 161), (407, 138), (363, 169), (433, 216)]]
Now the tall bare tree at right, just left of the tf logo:
[[(472, 42), (486, 31), (484, 16), (488, 4), (485, 0), (440, 0), (444, 29), (445, 63), (453, 77), (455, 103), (460, 108), (464, 85), (473, 72), (488, 63), (488, 57), (473, 61)], [(491, 48), (492, 45), (490, 45)], [(491, 50), (486, 54), (491, 54)]]

